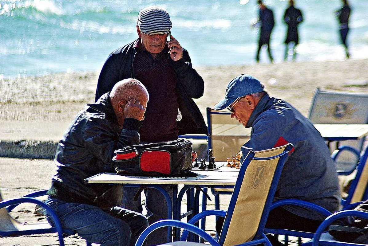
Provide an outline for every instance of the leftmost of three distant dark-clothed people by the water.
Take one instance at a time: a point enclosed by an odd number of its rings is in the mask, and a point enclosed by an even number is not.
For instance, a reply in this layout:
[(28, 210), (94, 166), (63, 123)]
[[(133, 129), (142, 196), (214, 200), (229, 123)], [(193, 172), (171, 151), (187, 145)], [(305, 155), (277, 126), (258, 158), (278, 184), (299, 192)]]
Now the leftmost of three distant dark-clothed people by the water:
[(259, 30), (259, 42), (258, 42), (258, 51), (256, 56), (257, 63), (259, 62), (259, 52), (262, 49), (263, 45), (267, 45), (268, 47), (268, 55), (270, 57), (271, 62), (273, 62), (273, 57), (271, 54), (271, 47), (270, 47), (270, 36), (275, 25), (275, 19), (273, 18), (273, 12), (269, 8), (267, 8), (263, 3), (262, 0), (258, 0), (259, 4), (259, 17), (257, 23), (253, 26), (261, 26)]

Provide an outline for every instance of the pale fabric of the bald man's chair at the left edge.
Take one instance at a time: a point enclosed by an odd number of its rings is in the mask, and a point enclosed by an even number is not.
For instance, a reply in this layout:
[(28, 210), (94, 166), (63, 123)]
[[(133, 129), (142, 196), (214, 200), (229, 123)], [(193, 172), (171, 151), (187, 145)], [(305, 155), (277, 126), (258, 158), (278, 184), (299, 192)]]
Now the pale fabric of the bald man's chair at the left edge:
[[(0, 192), (0, 202), (2, 201)], [(51, 225), (47, 222), (21, 223), (11, 217), (6, 208), (0, 208), (0, 231), (28, 231), (46, 228), (51, 228)]]

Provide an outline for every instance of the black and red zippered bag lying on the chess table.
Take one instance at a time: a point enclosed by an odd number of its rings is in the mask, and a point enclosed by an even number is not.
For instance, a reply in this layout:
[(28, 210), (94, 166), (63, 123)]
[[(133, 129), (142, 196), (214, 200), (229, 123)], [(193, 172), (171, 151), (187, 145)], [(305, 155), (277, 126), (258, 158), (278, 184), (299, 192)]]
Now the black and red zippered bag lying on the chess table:
[(114, 153), (115, 171), (121, 175), (176, 176), (192, 168), (192, 143), (184, 139), (132, 145)]

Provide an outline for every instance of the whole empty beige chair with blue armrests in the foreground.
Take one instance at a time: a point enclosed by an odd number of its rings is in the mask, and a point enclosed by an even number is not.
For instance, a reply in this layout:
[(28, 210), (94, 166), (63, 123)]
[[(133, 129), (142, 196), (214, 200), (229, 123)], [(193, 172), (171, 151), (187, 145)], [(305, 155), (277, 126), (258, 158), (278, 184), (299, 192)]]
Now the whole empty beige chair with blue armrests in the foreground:
[[(214, 246), (239, 244), (246, 246), (259, 243), (270, 246), (263, 229), (283, 164), (292, 147), (293, 145), (288, 144), (269, 150), (250, 151), (241, 165), (227, 212), (204, 211), (195, 215), (188, 223), (175, 220), (158, 221), (142, 232), (135, 246), (142, 246), (149, 233), (166, 226), (184, 228), (181, 241), (187, 239), (188, 232), (193, 232)], [(208, 215), (225, 217), (218, 242), (204, 230), (194, 226), (198, 220)], [(166, 245), (197, 245), (197, 243), (178, 241)]]

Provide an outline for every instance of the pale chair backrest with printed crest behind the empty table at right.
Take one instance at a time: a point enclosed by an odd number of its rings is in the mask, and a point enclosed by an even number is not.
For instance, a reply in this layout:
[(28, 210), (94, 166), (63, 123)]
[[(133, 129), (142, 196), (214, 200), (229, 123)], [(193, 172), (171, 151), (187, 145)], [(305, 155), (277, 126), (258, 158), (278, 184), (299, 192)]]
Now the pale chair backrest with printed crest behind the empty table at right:
[[(313, 123), (367, 124), (368, 93), (322, 90), (316, 88), (309, 108), (309, 119)], [(364, 138), (342, 141), (340, 145), (353, 146), (362, 150)], [(356, 165), (358, 159), (349, 152), (344, 152), (336, 160), (337, 169), (348, 170)], [(344, 168), (344, 166), (347, 166)]]

